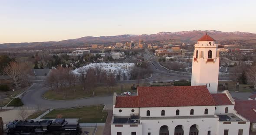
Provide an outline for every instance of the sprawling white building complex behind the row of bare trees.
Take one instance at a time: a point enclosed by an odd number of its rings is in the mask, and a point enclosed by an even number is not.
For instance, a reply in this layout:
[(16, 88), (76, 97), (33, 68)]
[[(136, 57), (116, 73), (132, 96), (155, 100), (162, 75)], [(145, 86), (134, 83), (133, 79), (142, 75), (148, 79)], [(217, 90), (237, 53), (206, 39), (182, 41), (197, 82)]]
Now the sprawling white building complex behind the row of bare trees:
[[(134, 67), (134, 63), (90, 63), (88, 65), (85, 65), (83, 68), (85, 71), (89, 68), (100, 68), (102, 71), (106, 71), (107, 73), (114, 73), (115, 77), (120, 75), (120, 80), (129, 80), (131, 77), (131, 69)], [(75, 74), (79, 74), (80, 68), (77, 68), (73, 71)]]

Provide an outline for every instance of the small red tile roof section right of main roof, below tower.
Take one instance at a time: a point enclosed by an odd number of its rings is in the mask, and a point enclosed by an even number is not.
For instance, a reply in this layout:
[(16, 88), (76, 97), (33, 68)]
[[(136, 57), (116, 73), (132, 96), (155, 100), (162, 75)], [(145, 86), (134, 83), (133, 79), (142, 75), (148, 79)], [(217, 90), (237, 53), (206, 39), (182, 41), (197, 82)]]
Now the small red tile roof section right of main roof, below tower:
[(233, 103), (230, 101), (230, 99), (226, 96), (225, 93), (217, 93), (211, 95), (213, 96), (213, 99), (215, 100), (217, 106), (233, 105)]

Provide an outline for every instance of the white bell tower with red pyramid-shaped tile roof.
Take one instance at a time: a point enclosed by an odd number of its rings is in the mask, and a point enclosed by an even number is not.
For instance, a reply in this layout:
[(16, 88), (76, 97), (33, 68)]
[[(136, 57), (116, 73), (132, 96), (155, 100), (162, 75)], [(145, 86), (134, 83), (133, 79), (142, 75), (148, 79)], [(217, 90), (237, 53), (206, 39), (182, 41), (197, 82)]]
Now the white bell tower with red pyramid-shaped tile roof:
[(220, 57), (218, 44), (205, 34), (195, 44), (191, 85), (205, 85), (210, 93), (217, 93)]

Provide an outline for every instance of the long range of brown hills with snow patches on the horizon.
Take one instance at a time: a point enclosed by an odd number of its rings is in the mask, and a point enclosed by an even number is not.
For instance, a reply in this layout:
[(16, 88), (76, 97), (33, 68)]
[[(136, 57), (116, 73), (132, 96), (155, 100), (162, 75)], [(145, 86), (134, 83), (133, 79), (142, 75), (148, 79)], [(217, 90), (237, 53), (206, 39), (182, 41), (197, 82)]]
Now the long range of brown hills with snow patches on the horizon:
[(256, 34), (248, 32), (221, 32), (216, 30), (193, 30), (183, 32), (159, 32), (150, 35), (115, 35), (115, 36), (86, 36), (79, 39), (68, 39), (59, 42), (31, 42), (31, 43), (4, 43), (0, 44), (0, 49), (5, 48), (33, 48), (33, 47), (52, 47), (52, 46), (79, 46), (85, 44), (106, 44), (112, 42), (130, 42), (144, 40), (146, 42), (178, 40), (181, 42), (195, 42), (205, 33), (213, 39), (221, 42), (223, 40), (256, 40)]

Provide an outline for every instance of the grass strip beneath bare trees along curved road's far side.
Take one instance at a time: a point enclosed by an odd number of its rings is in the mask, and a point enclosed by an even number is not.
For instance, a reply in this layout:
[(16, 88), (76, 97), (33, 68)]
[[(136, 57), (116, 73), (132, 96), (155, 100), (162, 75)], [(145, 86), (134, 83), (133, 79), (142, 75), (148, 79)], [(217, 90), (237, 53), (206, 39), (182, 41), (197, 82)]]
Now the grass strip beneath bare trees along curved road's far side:
[[(133, 84), (123, 84), (124, 85), (124, 91), (131, 91), (131, 86)], [(143, 84), (140, 84), (141, 86)], [(72, 90), (69, 90), (69, 87), (67, 89), (67, 97), (64, 97), (65, 90), (63, 91), (52, 91), (48, 90), (46, 93), (43, 94), (43, 96), (47, 99), (52, 99), (52, 100), (72, 100), (72, 99), (79, 99), (79, 98), (84, 98), (84, 97), (91, 97), (91, 96), (100, 96), (100, 95), (107, 95), (107, 94), (112, 94), (113, 92), (116, 93), (121, 93), (121, 84), (117, 84), (113, 87), (113, 91), (110, 87), (109, 93), (105, 85), (103, 84), (96, 84), (94, 87), (94, 95), (92, 95), (92, 90), (89, 89), (89, 92), (86, 93), (84, 90), (82, 90), (82, 86), (80, 84), (77, 84), (75, 87), (72, 88)], [(76, 92), (74, 93), (74, 89)]]

